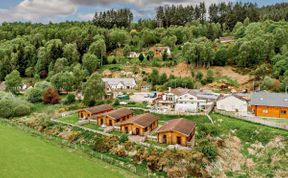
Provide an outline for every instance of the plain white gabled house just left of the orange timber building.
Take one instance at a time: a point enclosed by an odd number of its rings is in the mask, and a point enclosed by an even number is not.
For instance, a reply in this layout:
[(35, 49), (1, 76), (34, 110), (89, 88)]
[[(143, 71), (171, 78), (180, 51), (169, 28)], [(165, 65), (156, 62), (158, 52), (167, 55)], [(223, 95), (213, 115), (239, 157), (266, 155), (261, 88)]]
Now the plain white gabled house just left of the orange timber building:
[(247, 113), (248, 101), (237, 95), (227, 95), (217, 101), (216, 108), (229, 112)]

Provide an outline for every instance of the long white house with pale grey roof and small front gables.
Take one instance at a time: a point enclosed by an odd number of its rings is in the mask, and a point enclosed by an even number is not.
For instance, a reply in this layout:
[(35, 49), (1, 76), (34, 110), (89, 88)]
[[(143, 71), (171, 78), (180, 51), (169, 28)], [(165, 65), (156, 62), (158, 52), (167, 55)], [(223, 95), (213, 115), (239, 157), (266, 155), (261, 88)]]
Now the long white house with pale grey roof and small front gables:
[(134, 78), (102, 78), (102, 81), (106, 85), (106, 91), (131, 90), (136, 87)]

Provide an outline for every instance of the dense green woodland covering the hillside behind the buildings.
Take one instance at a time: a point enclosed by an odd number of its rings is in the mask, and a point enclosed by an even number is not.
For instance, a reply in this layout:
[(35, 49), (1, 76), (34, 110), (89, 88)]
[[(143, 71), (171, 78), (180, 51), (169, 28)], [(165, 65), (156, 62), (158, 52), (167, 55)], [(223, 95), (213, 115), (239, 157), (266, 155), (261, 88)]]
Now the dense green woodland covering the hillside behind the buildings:
[[(131, 23), (133, 15), (128, 9), (96, 13), (91, 22), (3, 23), (0, 81), (8, 80), (7, 88), (14, 93), (21, 83), (17, 77), (28, 77), (46, 79), (58, 90), (87, 91), (91, 95), (93, 90), (85, 86), (93, 87), (101, 78), (95, 72), (106, 65), (159, 67), (186, 62), (194, 67), (231, 65), (253, 69), (251, 74), (262, 81), (263, 88), (284, 90), (288, 83), (288, 4), (261, 8), (254, 4), (213, 4), (207, 12), (204, 7), (159, 7), (155, 20), (138, 23)], [(178, 14), (194, 14), (196, 9), (200, 12), (197, 17)], [(175, 21), (172, 16), (178, 18), (177, 14), (189, 17), (184, 21), (187, 23)], [(218, 38), (227, 35), (235, 36), (235, 42), (221, 44)], [(155, 58), (149, 51), (155, 45), (171, 47), (172, 55)], [(132, 51), (141, 53), (139, 59), (128, 59)], [(157, 75), (155, 71), (149, 78), (153, 85), (185, 83), (195, 87), (189, 79)], [(197, 76), (202, 78), (201, 74)], [(98, 93), (89, 100), (99, 98)]]

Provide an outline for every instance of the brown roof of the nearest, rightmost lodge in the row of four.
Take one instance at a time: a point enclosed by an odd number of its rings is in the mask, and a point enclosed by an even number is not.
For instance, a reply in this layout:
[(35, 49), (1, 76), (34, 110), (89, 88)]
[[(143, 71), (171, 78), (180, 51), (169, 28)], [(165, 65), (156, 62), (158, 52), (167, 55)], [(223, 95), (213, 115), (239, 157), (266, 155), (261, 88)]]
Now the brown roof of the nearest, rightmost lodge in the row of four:
[(157, 132), (176, 131), (183, 135), (189, 136), (195, 129), (196, 124), (187, 119), (174, 119), (168, 121)]

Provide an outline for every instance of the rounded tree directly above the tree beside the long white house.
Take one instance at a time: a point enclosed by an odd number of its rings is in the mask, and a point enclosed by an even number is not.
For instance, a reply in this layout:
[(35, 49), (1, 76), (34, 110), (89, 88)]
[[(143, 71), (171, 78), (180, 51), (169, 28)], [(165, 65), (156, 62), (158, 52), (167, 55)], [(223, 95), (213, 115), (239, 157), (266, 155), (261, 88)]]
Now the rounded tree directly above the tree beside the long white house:
[(92, 74), (99, 67), (100, 61), (94, 54), (86, 53), (83, 56), (83, 67)]

